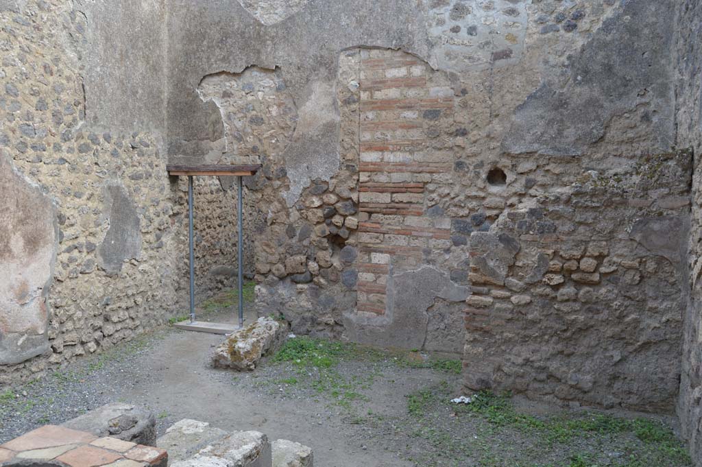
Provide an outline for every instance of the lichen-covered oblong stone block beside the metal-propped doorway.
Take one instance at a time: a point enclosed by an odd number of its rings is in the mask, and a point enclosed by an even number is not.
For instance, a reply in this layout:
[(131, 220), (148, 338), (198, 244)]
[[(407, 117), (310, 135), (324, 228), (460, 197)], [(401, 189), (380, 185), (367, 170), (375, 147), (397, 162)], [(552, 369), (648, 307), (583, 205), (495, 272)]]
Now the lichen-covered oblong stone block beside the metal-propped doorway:
[(256, 369), (260, 359), (274, 353), (287, 334), (286, 323), (260, 317), (250, 326), (227, 336), (212, 356), (213, 366), (238, 371)]

